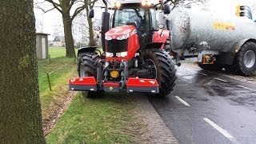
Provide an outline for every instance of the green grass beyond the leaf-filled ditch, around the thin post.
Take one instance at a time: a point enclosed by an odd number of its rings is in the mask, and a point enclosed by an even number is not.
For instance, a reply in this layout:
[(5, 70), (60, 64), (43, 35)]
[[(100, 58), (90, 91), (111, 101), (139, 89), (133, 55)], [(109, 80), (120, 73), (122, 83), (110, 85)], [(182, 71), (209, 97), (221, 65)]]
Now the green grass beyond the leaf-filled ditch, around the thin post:
[[(66, 50), (63, 48), (50, 48), (52, 58), (38, 60), (39, 94), (43, 119), (49, 119), (65, 101), (68, 90), (68, 79), (77, 76), (76, 65), (73, 58), (66, 58)], [(54, 71), (54, 72), (53, 72)], [(47, 73), (50, 73), (49, 89)]]

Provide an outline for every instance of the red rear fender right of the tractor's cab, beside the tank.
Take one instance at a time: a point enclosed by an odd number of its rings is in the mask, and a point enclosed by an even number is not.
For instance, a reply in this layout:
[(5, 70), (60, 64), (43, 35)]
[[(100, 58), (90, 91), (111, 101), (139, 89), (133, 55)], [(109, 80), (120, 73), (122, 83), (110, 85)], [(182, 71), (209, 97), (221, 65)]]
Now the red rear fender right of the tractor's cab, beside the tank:
[(163, 43), (161, 48), (164, 47), (164, 44), (166, 43), (167, 38), (170, 37), (170, 31), (169, 30), (162, 30), (162, 35), (159, 31), (155, 31), (153, 34), (153, 42), (161, 42)]

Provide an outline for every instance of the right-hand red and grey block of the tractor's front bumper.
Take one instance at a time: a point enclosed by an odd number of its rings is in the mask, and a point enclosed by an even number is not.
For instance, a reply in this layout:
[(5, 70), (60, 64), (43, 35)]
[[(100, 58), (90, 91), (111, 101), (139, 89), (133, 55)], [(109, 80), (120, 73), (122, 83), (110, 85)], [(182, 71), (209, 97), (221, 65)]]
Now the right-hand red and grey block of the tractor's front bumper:
[(143, 93), (159, 93), (158, 82), (155, 79), (129, 78), (126, 84), (127, 93), (143, 92)]

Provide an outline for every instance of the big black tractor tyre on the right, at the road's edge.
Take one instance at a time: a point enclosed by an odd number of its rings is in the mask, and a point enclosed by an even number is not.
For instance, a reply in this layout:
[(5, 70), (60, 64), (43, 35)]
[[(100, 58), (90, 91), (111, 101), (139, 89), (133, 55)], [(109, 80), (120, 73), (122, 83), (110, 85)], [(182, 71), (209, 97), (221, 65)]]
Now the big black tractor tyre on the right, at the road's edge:
[(142, 57), (150, 72), (148, 77), (158, 81), (159, 94), (156, 95), (165, 97), (170, 94), (174, 90), (176, 80), (176, 69), (170, 54), (160, 49), (148, 49), (142, 51)]

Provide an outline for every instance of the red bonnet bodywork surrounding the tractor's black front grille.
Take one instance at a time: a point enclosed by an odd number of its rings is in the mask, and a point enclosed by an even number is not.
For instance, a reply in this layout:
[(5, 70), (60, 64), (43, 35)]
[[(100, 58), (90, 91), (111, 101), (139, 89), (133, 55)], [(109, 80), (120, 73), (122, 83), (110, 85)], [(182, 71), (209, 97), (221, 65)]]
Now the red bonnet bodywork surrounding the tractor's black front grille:
[[(138, 34), (135, 26), (127, 25), (127, 26), (118, 26), (115, 27), (108, 32), (106, 32), (106, 36), (111, 37), (112, 39), (118, 38), (118, 36), (122, 36), (124, 34), (130, 34), (130, 37), (128, 38), (127, 42), (127, 56), (126, 57), (114, 57), (109, 58), (106, 57), (106, 61), (129, 61), (130, 59), (134, 58), (135, 53), (139, 50), (139, 42), (138, 42)], [(107, 46), (106, 46), (107, 51)]]

